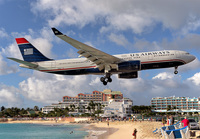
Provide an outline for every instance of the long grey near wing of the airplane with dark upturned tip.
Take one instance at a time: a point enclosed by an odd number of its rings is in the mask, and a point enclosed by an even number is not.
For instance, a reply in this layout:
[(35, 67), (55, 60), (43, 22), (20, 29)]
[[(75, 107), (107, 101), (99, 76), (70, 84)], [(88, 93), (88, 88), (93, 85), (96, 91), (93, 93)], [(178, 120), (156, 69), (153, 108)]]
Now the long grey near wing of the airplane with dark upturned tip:
[(59, 37), (60, 39), (64, 40), (65, 42), (69, 43), (79, 51), (77, 53), (80, 54), (80, 56), (86, 57), (88, 60), (94, 62), (99, 70), (111, 70), (111, 68), (116, 68), (116, 64), (121, 61), (121, 59), (109, 55), (105, 52), (102, 52), (96, 48), (93, 48), (91, 46), (88, 46), (84, 43), (81, 43), (75, 39), (72, 39), (60, 31), (58, 31), (56, 28), (52, 28), (54, 34)]

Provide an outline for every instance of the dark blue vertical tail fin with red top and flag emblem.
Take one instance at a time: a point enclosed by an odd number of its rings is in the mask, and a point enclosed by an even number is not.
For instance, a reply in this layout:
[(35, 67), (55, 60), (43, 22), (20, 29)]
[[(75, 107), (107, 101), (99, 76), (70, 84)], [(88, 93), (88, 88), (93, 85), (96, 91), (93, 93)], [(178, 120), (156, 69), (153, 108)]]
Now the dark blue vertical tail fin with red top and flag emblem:
[(27, 62), (39, 62), (52, 60), (44, 56), (40, 51), (38, 51), (31, 43), (29, 43), (25, 38), (16, 38), (16, 42), (19, 46), (20, 52), (24, 61)]

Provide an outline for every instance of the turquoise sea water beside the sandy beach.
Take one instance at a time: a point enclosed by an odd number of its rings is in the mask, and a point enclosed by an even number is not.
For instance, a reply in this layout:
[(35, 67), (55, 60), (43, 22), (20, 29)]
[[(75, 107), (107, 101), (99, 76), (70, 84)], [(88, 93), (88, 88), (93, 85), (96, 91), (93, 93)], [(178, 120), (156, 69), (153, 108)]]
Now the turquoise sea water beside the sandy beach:
[[(0, 124), (1, 139), (84, 139), (80, 125)], [(70, 132), (73, 133), (70, 134)]]

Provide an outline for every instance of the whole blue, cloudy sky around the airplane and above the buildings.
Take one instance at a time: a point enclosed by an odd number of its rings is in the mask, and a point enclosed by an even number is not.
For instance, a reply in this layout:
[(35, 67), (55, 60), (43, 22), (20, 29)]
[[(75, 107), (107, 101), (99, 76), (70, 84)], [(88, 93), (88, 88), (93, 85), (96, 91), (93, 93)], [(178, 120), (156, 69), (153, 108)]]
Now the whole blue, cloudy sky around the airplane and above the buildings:
[[(0, 0), (0, 106), (43, 107), (63, 96), (111, 89), (134, 105), (153, 97), (199, 97), (199, 0)], [(20, 68), (15, 38), (25, 37), (53, 59), (77, 58), (77, 50), (51, 28), (108, 54), (183, 50), (196, 60), (174, 68), (139, 71), (137, 79), (104, 86), (98, 75), (64, 76)]]

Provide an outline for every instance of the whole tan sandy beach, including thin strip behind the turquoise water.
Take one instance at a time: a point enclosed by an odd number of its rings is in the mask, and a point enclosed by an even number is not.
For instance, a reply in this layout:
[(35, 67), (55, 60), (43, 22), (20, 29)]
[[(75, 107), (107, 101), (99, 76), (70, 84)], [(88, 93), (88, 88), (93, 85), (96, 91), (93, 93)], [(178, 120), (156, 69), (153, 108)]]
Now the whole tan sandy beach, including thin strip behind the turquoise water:
[(133, 139), (133, 130), (137, 129), (137, 138), (142, 139), (160, 139), (158, 135), (153, 134), (153, 130), (160, 128), (161, 122), (151, 121), (113, 121), (99, 123), (70, 123), (69, 121), (41, 121), (41, 120), (23, 120), (1, 122), (7, 124), (26, 123), (26, 124), (68, 124), (83, 125), (81, 130), (88, 132), (84, 139)]

